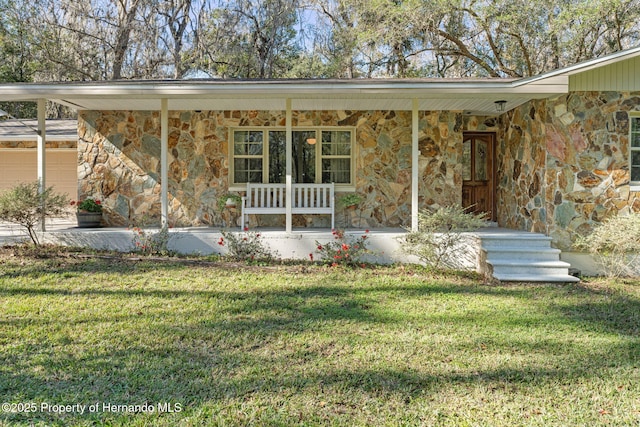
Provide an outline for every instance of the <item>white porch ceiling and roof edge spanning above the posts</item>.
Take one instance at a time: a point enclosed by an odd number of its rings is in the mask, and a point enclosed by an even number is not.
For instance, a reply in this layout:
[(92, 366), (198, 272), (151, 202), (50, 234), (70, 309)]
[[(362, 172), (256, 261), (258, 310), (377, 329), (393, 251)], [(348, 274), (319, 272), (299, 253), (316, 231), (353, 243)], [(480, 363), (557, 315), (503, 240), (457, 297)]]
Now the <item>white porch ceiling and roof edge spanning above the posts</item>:
[(411, 110), (413, 99), (427, 111), (495, 115), (531, 99), (565, 93), (566, 79), (516, 85), (484, 80), (272, 80), (118, 81), (0, 85), (0, 101), (45, 98), (78, 110)]

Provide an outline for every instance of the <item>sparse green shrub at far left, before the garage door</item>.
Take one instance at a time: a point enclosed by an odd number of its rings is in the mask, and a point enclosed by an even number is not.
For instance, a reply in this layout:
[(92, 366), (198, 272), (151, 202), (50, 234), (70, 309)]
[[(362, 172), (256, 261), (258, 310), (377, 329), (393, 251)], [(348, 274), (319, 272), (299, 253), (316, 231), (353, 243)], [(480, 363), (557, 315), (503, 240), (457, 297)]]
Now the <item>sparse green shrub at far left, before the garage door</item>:
[(0, 194), (0, 220), (24, 227), (34, 245), (38, 245), (36, 225), (46, 217), (67, 214), (68, 200), (53, 187), (39, 192), (40, 182), (21, 183)]

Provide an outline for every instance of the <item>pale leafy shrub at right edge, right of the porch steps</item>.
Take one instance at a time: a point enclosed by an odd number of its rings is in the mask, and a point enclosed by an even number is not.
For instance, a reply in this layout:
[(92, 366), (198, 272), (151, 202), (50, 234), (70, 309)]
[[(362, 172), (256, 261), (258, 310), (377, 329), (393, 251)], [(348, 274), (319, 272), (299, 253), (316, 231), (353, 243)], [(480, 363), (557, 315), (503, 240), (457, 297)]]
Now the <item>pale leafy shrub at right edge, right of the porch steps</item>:
[(608, 277), (640, 274), (640, 213), (618, 215), (605, 220), (575, 244), (589, 252)]

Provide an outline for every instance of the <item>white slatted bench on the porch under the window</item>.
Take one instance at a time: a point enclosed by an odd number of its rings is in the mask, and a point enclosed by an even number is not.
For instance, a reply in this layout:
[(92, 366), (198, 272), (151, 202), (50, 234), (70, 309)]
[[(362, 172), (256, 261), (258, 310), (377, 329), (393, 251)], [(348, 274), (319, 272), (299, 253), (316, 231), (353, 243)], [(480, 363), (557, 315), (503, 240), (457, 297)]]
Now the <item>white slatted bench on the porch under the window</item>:
[[(331, 215), (331, 229), (335, 228), (334, 186), (331, 184), (293, 184), (292, 214)], [(242, 198), (241, 227), (244, 230), (248, 215), (286, 214), (285, 184), (247, 183), (247, 195)]]

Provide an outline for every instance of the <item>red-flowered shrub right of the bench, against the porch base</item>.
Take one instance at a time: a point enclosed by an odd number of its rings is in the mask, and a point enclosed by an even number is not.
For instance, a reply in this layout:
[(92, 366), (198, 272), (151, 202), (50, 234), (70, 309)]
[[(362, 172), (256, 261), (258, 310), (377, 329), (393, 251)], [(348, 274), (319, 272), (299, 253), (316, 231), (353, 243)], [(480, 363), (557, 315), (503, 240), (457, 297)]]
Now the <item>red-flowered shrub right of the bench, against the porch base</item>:
[[(333, 230), (332, 234), (332, 241), (324, 244), (316, 241), (320, 259), (327, 264), (333, 266), (361, 265), (362, 256), (371, 253), (371, 250), (367, 248), (369, 230), (360, 236), (346, 234), (344, 230)], [(309, 254), (309, 257), (313, 261), (313, 254)]]

